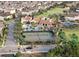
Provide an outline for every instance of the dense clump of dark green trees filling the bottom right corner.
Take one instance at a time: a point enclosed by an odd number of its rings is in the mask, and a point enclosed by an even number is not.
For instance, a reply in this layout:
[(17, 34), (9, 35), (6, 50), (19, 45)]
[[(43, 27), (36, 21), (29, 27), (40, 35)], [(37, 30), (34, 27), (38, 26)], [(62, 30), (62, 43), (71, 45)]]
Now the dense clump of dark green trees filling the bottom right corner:
[(63, 42), (61, 45), (57, 45), (54, 49), (50, 50), (48, 52), (48, 56), (79, 56), (79, 42), (78, 42), (78, 36), (76, 34), (72, 34), (70, 37), (70, 41), (65, 40), (65, 43)]

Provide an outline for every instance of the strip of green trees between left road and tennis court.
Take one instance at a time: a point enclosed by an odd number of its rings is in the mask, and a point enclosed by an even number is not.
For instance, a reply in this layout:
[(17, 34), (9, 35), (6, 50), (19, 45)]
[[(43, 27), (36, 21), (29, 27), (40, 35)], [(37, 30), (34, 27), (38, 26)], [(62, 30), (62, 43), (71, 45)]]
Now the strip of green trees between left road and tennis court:
[(16, 39), (17, 42), (19, 42), (20, 44), (25, 42), (23, 40), (23, 35), (22, 35), (22, 24), (20, 22), (20, 20), (16, 20), (16, 27), (14, 29), (14, 37)]

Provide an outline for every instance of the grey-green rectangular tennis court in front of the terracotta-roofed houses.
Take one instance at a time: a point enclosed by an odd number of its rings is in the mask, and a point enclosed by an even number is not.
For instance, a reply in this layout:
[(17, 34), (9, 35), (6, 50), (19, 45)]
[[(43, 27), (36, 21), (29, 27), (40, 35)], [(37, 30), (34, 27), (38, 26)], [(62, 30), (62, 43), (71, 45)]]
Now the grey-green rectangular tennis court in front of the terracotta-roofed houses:
[(25, 41), (52, 41), (54, 39), (50, 32), (26, 32)]

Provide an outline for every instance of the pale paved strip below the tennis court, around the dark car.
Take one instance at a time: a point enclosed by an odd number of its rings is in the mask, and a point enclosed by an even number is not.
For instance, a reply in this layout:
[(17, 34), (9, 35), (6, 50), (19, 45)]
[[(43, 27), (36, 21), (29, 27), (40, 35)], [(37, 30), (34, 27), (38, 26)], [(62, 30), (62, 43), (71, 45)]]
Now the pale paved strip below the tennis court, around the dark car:
[(36, 45), (32, 49), (26, 49), (27, 46), (21, 48), (22, 53), (39, 53), (48, 52), (50, 49), (55, 48), (56, 45)]

